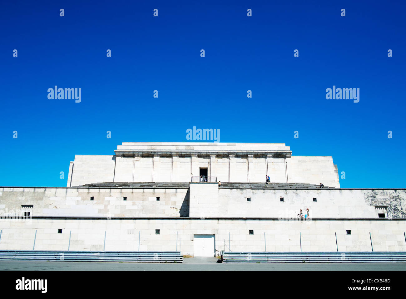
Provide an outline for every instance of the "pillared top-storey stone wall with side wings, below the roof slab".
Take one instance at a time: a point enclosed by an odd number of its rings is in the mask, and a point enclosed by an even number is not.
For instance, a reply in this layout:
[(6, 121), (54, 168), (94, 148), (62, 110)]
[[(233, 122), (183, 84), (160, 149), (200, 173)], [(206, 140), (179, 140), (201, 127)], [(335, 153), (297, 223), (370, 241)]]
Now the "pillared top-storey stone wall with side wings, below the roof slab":
[(109, 156), (76, 155), (69, 168), (67, 186), (100, 182), (189, 182), (207, 168), (222, 182), (324, 183), (339, 188), (337, 168), (328, 156), (273, 157), (256, 155)]

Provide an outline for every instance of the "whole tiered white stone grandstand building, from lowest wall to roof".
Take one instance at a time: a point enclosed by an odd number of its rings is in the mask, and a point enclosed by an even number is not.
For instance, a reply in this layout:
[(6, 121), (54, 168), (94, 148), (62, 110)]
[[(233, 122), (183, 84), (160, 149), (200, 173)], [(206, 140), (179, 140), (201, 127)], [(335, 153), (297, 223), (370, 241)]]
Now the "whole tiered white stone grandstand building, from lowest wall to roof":
[(76, 155), (67, 187), (0, 187), (0, 250), (406, 251), (405, 211), (283, 143), (123, 142)]

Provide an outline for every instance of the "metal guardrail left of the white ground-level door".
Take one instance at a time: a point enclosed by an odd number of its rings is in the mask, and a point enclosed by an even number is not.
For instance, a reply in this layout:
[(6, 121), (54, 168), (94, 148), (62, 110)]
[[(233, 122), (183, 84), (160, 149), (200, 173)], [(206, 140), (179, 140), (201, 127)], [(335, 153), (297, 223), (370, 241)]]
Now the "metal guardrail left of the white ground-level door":
[(63, 262), (183, 262), (179, 251), (8, 251), (0, 260), (47, 260)]

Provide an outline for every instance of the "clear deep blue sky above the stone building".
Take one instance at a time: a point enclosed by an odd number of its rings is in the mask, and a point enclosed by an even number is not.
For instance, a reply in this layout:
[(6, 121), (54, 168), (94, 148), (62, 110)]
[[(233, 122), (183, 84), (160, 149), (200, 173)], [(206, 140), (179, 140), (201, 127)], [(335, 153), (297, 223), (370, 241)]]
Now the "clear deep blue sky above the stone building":
[[(342, 188), (405, 188), (405, 2), (220, 2), (2, 2), (0, 186), (66, 186), (75, 154), (196, 126), (331, 155)], [(359, 103), (327, 100), (333, 85)]]

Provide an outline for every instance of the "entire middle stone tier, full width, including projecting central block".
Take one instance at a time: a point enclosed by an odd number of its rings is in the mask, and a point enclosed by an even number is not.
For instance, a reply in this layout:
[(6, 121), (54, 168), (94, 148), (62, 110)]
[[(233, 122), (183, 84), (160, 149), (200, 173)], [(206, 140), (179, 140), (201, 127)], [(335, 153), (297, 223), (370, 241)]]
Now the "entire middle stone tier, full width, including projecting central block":
[(0, 216), (30, 212), (30, 216), (45, 217), (292, 218), (300, 209), (305, 214), (309, 208), (312, 218), (377, 218), (378, 214), (406, 218), (403, 189), (218, 188), (217, 183), (189, 186), (0, 188)]

